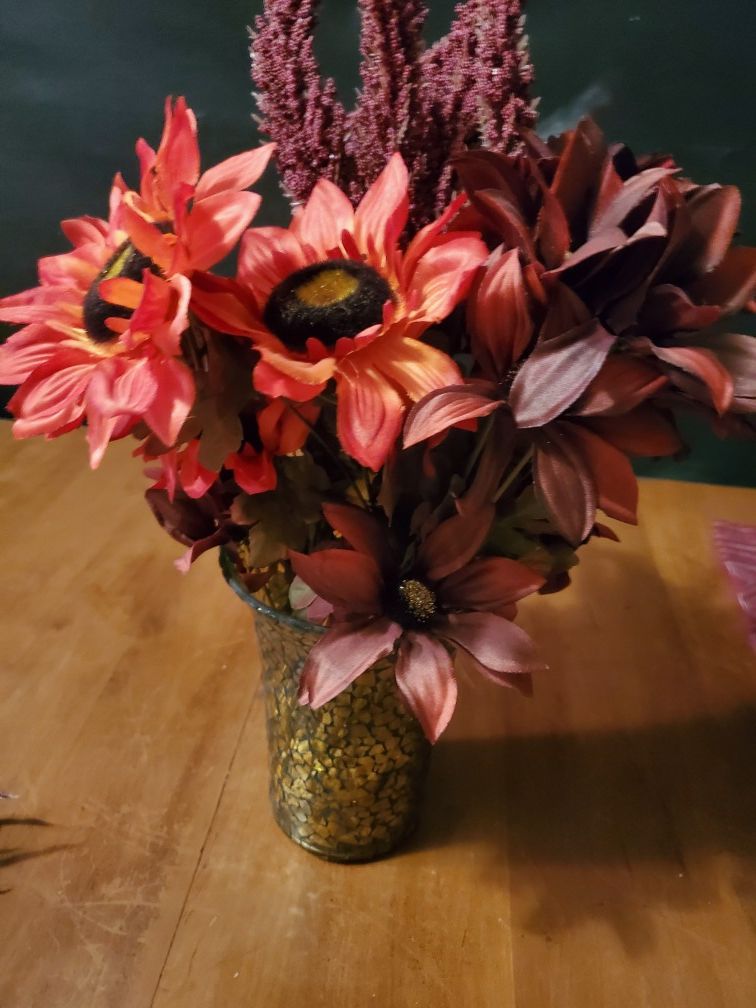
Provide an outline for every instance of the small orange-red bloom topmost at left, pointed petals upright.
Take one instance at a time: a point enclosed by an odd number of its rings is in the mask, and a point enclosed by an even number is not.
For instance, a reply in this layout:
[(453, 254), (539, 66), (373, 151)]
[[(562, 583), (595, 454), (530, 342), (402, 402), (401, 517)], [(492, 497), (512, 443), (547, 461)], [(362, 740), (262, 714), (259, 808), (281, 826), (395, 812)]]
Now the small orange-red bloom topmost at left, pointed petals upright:
[(144, 255), (166, 276), (210, 269), (234, 248), (260, 206), (245, 192), (265, 170), (275, 144), (229, 157), (200, 173), (197, 119), (183, 98), (165, 100), (157, 151), (136, 145), (139, 193), (127, 192), (123, 224)]

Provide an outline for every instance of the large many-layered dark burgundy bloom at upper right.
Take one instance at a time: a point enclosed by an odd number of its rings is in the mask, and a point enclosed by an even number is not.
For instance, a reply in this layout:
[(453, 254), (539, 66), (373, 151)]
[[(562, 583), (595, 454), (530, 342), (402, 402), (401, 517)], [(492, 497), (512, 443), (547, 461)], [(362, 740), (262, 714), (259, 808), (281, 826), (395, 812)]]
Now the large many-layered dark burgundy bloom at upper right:
[[(681, 400), (725, 413), (738, 376), (712, 327), (748, 309), (756, 290), (756, 248), (732, 245), (737, 188), (677, 177), (669, 159), (638, 161), (609, 147), (590, 120), (548, 145), (527, 141), (517, 156), (459, 159), (479, 226), (537, 271), (549, 318), (566, 305), (592, 320), (594, 362), (612, 349), (646, 358)], [(545, 326), (541, 339), (554, 332)], [(739, 358), (752, 368), (756, 341), (743, 343)]]

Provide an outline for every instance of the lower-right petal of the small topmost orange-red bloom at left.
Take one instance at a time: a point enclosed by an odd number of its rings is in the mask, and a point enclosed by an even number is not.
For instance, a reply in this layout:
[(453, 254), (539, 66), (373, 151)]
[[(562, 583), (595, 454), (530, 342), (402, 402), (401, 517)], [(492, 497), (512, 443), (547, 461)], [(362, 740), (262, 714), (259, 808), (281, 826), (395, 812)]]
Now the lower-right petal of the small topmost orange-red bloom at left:
[(196, 203), (181, 236), (193, 269), (210, 269), (233, 249), (257, 213), (256, 193), (217, 193)]

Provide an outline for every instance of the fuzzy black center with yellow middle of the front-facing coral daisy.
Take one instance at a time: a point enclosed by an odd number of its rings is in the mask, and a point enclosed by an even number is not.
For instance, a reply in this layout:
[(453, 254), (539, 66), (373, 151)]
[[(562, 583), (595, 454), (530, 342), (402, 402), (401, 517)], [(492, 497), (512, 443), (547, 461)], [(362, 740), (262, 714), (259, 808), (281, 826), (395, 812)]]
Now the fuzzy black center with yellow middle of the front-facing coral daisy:
[(299, 269), (274, 288), (265, 305), (265, 325), (292, 350), (309, 339), (333, 346), (383, 319), (393, 297), (384, 278), (353, 259), (329, 259)]

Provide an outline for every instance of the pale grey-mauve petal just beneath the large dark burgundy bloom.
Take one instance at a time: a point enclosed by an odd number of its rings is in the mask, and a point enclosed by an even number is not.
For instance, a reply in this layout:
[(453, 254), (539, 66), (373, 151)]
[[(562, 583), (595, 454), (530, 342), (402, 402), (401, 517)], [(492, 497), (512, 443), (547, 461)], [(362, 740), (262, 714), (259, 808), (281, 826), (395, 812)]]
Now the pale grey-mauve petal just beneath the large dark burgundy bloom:
[(598, 319), (538, 343), (512, 384), (517, 426), (543, 426), (562, 413), (599, 373), (614, 343)]

